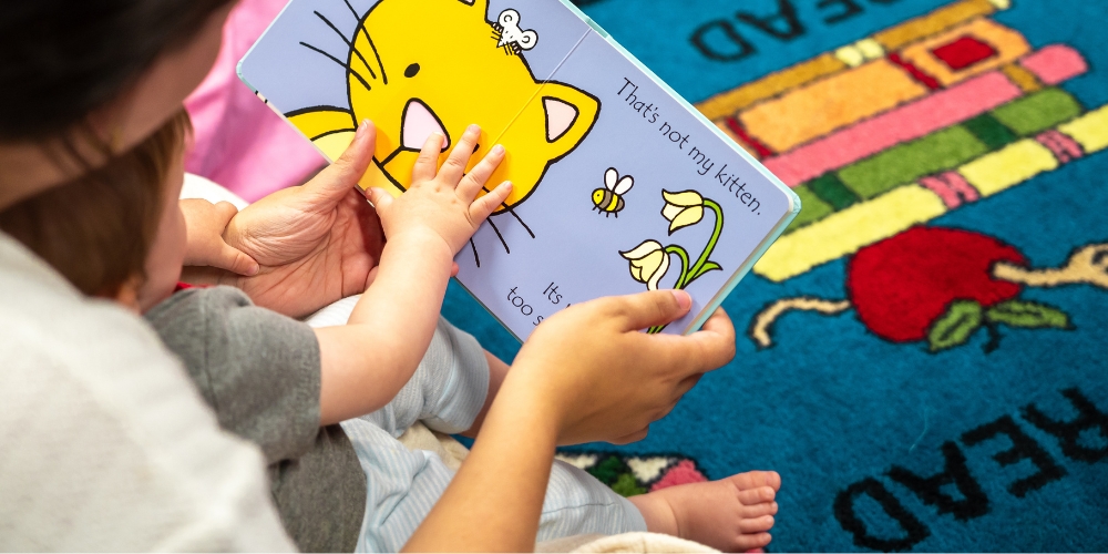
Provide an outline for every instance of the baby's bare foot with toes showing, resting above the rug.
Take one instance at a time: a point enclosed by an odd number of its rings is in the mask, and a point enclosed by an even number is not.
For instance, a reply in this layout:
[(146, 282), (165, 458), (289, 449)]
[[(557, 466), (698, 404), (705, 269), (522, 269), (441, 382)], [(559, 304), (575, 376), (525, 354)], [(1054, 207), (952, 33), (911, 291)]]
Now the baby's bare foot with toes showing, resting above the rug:
[(719, 481), (689, 483), (629, 500), (643, 513), (647, 531), (696, 541), (725, 552), (769, 544), (781, 476), (750, 471)]

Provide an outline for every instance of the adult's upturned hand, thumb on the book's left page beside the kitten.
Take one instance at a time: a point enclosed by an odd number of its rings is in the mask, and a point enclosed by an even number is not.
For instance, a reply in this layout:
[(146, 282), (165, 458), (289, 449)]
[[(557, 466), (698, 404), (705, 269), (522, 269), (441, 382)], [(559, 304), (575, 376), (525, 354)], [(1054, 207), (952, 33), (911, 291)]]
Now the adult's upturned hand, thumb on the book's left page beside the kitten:
[(257, 275), (194, 268), (186, 279), (234, 285), (258, 306), (291, 317), (365, 291), (384, 245), (377, 212), (356, 186), (372, 161), (376, 135), (371, 123), (362, 123), (342, 156), (315, 178), (230, 220), (224, 239), (257, 260)]

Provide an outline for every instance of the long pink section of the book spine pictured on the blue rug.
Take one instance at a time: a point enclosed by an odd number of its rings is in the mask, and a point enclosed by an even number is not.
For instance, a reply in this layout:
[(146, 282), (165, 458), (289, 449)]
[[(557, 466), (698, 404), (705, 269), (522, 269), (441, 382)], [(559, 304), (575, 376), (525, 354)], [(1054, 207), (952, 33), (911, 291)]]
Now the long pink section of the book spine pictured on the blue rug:
[(762, 163), (787, 185), (797, 186), (890, 146), (961, 123), (1020, 94), (1018, 86), (993, 71)]

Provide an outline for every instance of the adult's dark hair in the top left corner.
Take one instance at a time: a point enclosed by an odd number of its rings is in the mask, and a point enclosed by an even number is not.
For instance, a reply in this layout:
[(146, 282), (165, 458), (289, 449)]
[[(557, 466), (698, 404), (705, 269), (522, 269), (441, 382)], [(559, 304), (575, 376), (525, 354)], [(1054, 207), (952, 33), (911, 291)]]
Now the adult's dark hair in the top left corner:
[(81, 125), (232, 0), (17, 0), (0, 11), (0, 142)]

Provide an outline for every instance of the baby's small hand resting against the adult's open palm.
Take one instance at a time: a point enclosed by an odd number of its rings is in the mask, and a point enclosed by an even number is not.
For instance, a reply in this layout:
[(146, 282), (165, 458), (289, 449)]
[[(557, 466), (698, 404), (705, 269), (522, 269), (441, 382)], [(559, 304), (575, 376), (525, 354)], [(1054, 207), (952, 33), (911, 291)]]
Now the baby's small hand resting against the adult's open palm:
[(199, 198), (181, 201), (181, 212), (185, 216), (185, 260), (186, 266), (209, 266), (239, 275), (255, 275), (258, 263), (224, 240), (227, 229), (238, 208), (229, 202), (212, 204)]

